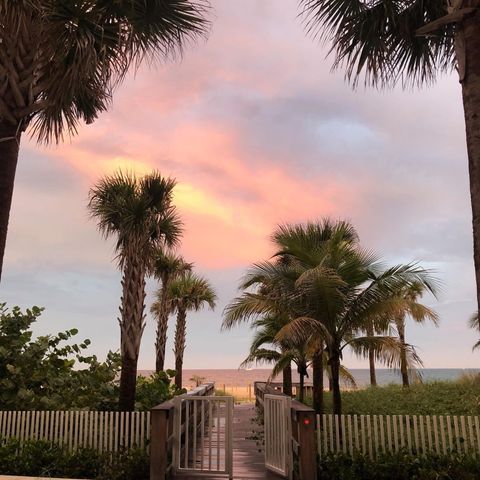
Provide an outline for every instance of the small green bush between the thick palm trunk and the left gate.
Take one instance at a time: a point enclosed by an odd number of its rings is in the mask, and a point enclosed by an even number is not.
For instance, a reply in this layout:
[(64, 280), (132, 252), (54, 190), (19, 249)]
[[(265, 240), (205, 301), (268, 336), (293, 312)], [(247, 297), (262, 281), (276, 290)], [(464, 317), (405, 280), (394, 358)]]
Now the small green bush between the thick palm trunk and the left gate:
[(137, 377), (135, 409), (150, 410), (174, 395), (185, 393), (185, 389), (179, 389), (174, 383), (171, 383), (176, 373), (175, 370), (166, 370), (165, 372), (153, 373), (150, 377), (142, 375)]

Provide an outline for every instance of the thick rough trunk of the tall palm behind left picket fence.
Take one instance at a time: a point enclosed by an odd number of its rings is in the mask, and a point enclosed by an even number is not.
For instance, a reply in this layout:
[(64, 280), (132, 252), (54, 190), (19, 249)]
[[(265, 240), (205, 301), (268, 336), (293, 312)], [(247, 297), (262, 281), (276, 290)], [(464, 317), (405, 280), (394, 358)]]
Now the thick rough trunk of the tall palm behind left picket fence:
[(135, 408), (137, 363), (145, 328), (145, 266), (142, 259), (127, 258), (122, 277), (122, 299), (119, 319), (122, 371), (120, 374), (119, 409)]

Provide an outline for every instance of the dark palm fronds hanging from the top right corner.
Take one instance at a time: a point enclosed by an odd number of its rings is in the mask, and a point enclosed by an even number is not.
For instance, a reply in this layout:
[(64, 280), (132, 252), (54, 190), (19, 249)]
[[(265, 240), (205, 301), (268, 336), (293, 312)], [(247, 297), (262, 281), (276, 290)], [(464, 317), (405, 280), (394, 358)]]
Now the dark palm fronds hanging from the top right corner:
[(447, 13), (447, 0), (300, 0), (307, 29), (332, 43), (334, 67), (354, 85), (421, 85), (455, 66), (454, 23), (417, 29)]

